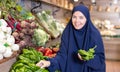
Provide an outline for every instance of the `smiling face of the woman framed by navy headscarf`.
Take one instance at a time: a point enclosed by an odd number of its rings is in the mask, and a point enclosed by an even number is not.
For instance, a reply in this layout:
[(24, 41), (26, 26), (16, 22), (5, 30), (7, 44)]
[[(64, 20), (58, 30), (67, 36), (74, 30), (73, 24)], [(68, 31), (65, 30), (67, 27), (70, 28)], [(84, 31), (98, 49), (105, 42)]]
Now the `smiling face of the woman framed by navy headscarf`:
[(72, 24), (75, 29), (81, 29), (86, 23), (86, 18), (82, 12), (76, 11), (72, 16)]

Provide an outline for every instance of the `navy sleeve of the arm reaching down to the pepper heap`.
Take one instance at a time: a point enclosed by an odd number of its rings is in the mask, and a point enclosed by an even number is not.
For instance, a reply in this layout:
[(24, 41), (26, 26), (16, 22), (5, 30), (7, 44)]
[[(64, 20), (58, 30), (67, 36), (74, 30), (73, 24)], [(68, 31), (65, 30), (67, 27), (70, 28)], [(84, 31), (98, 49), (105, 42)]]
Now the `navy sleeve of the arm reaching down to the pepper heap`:
[(67, 48), (65, 46), (64, 39), (61, 39), (60, 50), (57, 53), (56, 57), (48, 59), (51, 62), (51, 65), (48, 67), (50, 72), (55, 72), (55, 70), (61, 70), (64, 72), (66, 66), (67, 58)]

